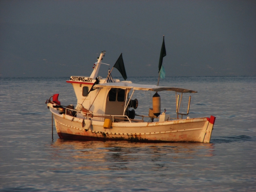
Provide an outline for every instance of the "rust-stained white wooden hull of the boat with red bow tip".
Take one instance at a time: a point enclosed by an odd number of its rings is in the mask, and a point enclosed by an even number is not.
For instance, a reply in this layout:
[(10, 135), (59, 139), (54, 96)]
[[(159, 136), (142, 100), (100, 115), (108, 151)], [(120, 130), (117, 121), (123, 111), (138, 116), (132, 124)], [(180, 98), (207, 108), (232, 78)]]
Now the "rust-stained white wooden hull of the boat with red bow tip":
[[(87, 131), (83, 119), (59, 114), (51, 109), (57, 133), (61, 139), (76, 140), (131, 140), (136, 142), (202, 142), (210, 143), (215, 117), (191, 118), (163, 122), (112, 123), (103, 128), (102, 121), (91, 118)], [(87, 120), (84, 120), (87, 123)]]

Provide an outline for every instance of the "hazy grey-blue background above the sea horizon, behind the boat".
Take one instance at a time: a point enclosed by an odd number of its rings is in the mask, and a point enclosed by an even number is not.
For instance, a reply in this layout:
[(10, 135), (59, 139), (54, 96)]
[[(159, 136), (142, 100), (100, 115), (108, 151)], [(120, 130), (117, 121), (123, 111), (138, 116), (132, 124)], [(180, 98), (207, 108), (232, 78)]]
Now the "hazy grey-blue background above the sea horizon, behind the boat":
[[(54, 26), (52, 36), (40, 26)], [(22, 27), (33, 31), (33, 46), (26, 45), (31, 34)], [(90, 75), (103, 50), (103, 62), (112, 66), (123, 53), (128, 77), (155, 76), (163, 35), (167, 76), (256, 75), (255, 0), (1, 0), (0, 33), (0, 76), (54, 76), (36, 67), (46, 61), (58, 64), (57, 76)], [(45, 46), (53, 37), (59, 41)]]

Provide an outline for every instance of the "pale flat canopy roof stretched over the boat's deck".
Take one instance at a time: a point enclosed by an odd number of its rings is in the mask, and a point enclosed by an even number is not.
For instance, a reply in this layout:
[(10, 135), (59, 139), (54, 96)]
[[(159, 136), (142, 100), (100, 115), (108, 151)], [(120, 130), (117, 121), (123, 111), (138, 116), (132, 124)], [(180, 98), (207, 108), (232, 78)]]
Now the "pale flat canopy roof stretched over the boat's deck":
[(96, 84), (94, 87), (110, 87), (110, 88), (145, 90), (145, 91), (176, 91), (179, 93), (197, 93), (197, 91), (176, 88), (176, 87), (163, 87), (163, 86), (136, 84), (136, 83), (129, 83), (129, 82), (102, 83), (102, 84)]

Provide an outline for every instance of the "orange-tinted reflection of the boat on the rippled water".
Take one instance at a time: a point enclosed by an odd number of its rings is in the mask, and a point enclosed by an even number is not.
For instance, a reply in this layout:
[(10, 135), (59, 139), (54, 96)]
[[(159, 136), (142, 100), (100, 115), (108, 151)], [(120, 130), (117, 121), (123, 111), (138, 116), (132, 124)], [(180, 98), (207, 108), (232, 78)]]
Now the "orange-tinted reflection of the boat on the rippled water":
[(199, 165), (204, 163), (204, 157), (214, 155), (214, 144), (211, 143), (81, 142), (57, 139), (52, 147), (55, 148), (54, 158), (62, 159), (64, 163), (60, 169), (67, 166), (90, 171), (164, 168), (173, 172), (173, 166), (191, 166), (191, 160), (199, 160)]

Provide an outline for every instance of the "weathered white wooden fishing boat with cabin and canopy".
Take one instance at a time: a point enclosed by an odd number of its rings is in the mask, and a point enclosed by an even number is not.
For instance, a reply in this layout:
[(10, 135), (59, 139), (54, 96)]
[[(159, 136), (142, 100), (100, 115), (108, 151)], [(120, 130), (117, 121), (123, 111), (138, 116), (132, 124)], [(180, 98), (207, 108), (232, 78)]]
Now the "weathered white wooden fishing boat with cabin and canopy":
[[(202, 142), (210, 143), (215, 117), (183, 118), (189, 114), (180, 113), (182, 94), (197, 91), (136, 84), (113, 79), (108, 70), (106, 78), (98, 76), (105, 51), (101, 52), (90, 76), (71, 76), (67, 83), (74, 87), (76, 106), (63, 106), (54, 94), (46, 104), (53, 114), (56, 131), (61, 139), (71, 140), (130, 140), (135, 142)], [(120, 59), (121, 58), (121, 59)], [(120, 64), (121, 63), (121, 64)], [(117, 66), (115, 66), (117, 65)], [(114, 65), (126, 76), (122, 54)], [(125, 70), (125, 69), (124, 69)], [(106, 73), (107, 74), (107, 73)], [(153, 91), (151, 106), (145, 114), (137, 114), (138, 99), (135, 91)], [(176, 92), (176, 115), (161, 111), (161, 91)], [(181, 97), (180, 97), (181, 94)]]

